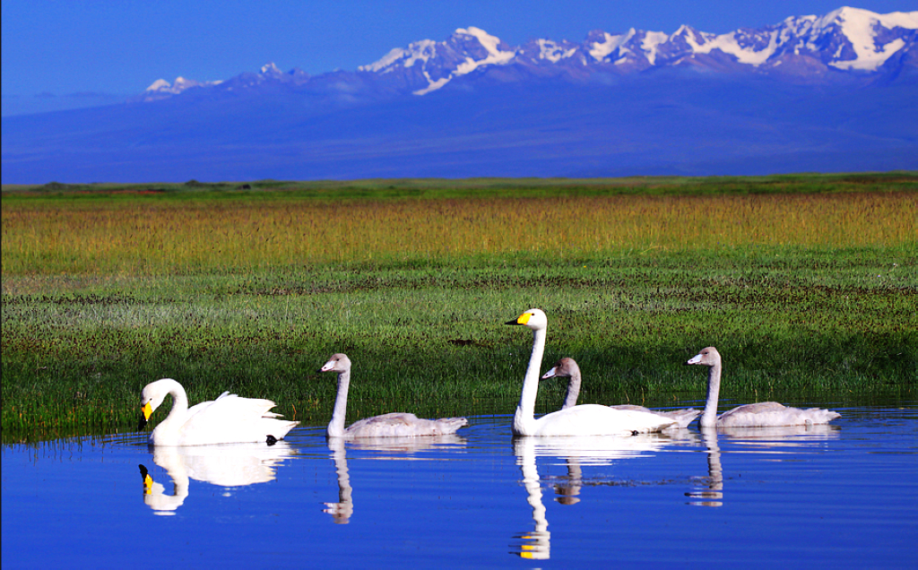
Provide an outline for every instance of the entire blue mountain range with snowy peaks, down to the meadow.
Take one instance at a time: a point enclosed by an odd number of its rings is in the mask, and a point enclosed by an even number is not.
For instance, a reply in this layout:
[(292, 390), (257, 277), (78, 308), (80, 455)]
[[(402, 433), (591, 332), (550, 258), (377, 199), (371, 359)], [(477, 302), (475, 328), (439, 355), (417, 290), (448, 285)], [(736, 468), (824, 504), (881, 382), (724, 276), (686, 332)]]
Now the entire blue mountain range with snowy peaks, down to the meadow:
[(356, 72), (157, 80), (3, 119), (4, 184), (918, 170), (918, 12), (715, 36), (478, 28)]

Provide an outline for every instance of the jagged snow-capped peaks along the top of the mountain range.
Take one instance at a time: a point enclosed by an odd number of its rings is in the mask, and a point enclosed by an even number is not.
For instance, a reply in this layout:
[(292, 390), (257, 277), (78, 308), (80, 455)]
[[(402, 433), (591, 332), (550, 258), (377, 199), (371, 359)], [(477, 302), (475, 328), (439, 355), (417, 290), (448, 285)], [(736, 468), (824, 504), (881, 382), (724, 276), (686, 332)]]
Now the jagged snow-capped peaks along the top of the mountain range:
[(631, 28), (613, 34), (588, 33), (580, 43), (533, 39), (509, 46), (480, 28), (459, 28), (442, 41), (422, 39), (390, 50), (354, 73), (309, 77), (299, 70), (282, 73), (274, 63), (261, 73), (243, 73), (227, 82), (197, 83), (181, 77), (160, 79), (141, 99), (177, 95), (191, 87), (232, 90), (265, 82), (317, 86), (344, 81), (361, 89), (427, 95), (457, 80), (493, 74), (501, 82), (560, 77), (588, 82), (597, 75), (625, 75), (663, 67), (721, 73), (752, 73), (825, 81), (843, 75), (899, 73), (918, 67), (915, 56), (918, 11), (876, 14), (842, 7), (822, 17), (788, 17), (765, 28), (739, 28), (711, 34), (682, 26), (671, 34)]

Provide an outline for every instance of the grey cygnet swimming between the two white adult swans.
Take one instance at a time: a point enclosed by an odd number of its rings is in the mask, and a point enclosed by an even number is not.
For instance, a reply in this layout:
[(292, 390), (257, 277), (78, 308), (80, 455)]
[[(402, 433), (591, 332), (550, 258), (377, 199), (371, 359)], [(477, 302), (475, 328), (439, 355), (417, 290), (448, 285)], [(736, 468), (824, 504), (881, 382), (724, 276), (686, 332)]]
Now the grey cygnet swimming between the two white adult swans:
[(351, 385), (351, 359), (345, 354), (332, 354), (319, 372), (338, 373), (338, 397), (331, 412), (331, 421), (326, 431), (330, 438), (380, 438), (446, 435), (465, 426), (465, 418), (419, 419), (414, 414), (392, 413), (361, 419), (344, 429), (347, 411), (347, 390)]

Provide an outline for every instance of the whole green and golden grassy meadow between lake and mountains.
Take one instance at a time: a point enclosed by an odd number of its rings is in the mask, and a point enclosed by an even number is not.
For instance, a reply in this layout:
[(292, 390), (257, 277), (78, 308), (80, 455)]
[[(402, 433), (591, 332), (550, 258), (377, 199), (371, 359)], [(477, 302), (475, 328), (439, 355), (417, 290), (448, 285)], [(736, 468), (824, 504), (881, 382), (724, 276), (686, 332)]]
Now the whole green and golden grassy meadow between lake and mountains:
[(681, 363), (708, 344), (725, 399), (914, 397), (912, 174), (271, 184), (5, 187), (5, 438), (129, 430), (163, 376), (324, 423), (331, 352), (349, 420), (509, 413), (528, 307), (582, 401), (700, 399)]

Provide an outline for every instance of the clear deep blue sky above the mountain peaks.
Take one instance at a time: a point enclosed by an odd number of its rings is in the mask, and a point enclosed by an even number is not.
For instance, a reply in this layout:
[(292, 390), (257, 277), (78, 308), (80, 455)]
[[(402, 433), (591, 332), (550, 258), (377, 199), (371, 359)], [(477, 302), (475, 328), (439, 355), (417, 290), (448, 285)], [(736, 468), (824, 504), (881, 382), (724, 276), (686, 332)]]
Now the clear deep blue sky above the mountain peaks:
[[(419, 39), (476, 26), (518, 45), (582, 41), (589, 30), (723, 33), (822, 15), (842, 0), (3, 0), (2, 93), (134, 95), (159, 78), (227, 79), (274, 61), (311, 74), (356, 69)], [(849, 6), (908, 11), (914, 0)]]

